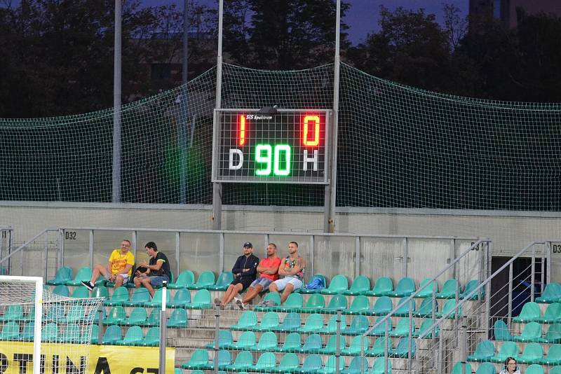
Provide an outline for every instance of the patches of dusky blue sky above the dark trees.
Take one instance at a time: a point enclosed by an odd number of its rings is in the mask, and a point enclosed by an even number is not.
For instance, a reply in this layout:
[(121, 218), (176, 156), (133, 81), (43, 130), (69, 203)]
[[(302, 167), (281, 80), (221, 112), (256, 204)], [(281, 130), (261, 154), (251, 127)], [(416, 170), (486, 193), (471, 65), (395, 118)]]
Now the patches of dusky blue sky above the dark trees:
[[(217, 6), (217, 0), (196, 0), (199, 4), (210, 7)], [(438, 22), (442, 21), (442, 8), (445, 4), (454, 4), (462, 15), (468, 15), (469, 0), (344, 0), (351, 5), (351, 8), (344, 18), (344, 22), (349, 25), (349, 39), (353, 44), (364, 41), (369, 33), (377, 32), (379, 10), (383, 5), (393, 11), (398, 6), (417, 11), (424, 8), (425, 13), (433, 13)], [(157, 6), (165, 4), (177, 4), (183, 9), (184, 0), (142, 0), (147, 6)]]

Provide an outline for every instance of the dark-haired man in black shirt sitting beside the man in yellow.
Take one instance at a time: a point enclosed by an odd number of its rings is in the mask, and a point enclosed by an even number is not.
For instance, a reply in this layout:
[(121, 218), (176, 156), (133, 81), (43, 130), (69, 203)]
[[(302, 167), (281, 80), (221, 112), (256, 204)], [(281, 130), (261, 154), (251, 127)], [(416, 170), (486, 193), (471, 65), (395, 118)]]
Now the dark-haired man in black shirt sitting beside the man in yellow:
[(164, 281), (170, 282), (170, 262), (165, 254), (158, 252), (156, 243), (147, 242), (144, 249), (150, 260), (139, 264), (135, 272), (135, 287), (146, 287), (150, 296), (154, 297), (154, 286), (161, 286)]

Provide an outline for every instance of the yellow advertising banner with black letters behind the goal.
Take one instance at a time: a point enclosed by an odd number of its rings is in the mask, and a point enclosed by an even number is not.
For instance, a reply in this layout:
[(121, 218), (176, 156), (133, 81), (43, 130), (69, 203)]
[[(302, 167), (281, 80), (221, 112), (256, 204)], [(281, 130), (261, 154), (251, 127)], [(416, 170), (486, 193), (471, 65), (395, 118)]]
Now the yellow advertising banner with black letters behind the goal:
[[(1, 374), (31, 374), (32, 361), (33, 342), (0, 342)], [(159, 374), (159, 361), (159, 347), (43, 343), (40, 374)], [(174, 364), (175, 348), (166, 348), (165, 374)]]

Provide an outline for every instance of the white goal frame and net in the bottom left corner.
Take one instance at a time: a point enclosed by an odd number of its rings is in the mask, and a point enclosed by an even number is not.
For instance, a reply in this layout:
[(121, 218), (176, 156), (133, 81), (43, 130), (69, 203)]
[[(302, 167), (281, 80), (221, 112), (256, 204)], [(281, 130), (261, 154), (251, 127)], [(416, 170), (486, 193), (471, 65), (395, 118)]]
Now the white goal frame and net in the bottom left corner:
[(2, 372), (87, 373), (102, 301), (55, 295), (41, 277), (0, 276)]

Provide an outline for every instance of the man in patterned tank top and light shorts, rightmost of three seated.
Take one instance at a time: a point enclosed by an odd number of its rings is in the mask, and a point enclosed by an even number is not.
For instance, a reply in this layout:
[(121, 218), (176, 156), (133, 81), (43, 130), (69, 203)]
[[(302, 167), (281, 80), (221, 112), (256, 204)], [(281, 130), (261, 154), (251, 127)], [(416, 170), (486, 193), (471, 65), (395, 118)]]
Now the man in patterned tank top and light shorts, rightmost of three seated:
[(286, 256), (278, 268), (278, 275), (282, 278), (271, 283), (271, 286), (269, 286), (269, 291), (271, 292), (283, 291), (280, 295), (280, 303), (284, 303), (292, 291), (302, 287), (305, 267), (306, 262), (304, 258), (298, 254), (298, 243), (288, 243), (288, 256)]

